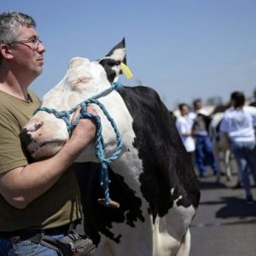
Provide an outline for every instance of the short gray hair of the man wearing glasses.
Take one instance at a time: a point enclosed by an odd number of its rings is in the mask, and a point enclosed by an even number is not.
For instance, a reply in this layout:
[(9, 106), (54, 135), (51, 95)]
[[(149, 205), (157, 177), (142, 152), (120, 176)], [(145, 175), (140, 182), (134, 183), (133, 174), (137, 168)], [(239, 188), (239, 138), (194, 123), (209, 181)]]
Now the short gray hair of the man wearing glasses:
[(9, 44), (20, 36), (20, 26), (35, 27), (31, 16), (18, 12), (0, 14), (0, 44)]

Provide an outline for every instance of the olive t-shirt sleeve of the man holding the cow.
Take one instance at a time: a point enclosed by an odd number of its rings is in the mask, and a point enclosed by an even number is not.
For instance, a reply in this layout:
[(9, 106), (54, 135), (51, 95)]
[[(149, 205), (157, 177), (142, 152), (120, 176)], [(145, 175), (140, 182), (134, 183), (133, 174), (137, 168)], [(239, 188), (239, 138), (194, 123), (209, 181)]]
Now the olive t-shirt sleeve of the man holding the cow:
[(0, 173), (27, 165), (19, 134), (20, 126), (15, 117), (0, 113)]

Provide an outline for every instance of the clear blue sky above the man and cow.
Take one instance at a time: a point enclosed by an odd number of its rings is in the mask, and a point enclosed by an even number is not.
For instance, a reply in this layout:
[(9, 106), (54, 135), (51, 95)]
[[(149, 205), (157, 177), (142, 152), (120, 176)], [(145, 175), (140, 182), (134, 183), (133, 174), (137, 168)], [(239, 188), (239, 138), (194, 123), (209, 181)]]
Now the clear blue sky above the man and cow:
[(38, 96), (57, 84), (68, 61), (95, 61), (125, 37), (133, 78), (156, 90), (170, 110), (213, 96), (229, 101), (256, 89), (255, 0), (0, 0), (37, 22), (46, 47), (44, 72), (31, 86)]

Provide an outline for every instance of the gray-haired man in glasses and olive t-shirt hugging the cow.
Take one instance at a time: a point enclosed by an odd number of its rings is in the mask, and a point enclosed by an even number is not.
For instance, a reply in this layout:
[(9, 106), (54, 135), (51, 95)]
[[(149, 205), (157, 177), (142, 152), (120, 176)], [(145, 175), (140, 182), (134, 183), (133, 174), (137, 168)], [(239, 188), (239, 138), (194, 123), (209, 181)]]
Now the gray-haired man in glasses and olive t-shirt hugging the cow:
[[(0, 15), (0, 255), (57, 255), (33, 243), (43, 232), (60, 239), (81, 218), (79, 187), (70, 168), (95, 137), (82, 119), (55, 156), (29, 162), (19, 133), (40, 102), (28, 86), (42, 73), (44, 45), (32, 17)], [(90, 112), (93, 109), (90, 108)], [(36, 129), (36, 127), (35, 127)]]

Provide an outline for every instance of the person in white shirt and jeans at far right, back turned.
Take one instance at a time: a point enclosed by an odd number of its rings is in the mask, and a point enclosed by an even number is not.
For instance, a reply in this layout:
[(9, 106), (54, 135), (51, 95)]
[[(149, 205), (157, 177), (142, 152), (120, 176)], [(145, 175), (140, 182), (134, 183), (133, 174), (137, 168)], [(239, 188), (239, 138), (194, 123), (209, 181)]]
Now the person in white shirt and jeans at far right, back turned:
[(241, 181), (247, 196), (247, 204), (253, 204), (250, 179), (247, 167), (253, 173), (256, 183), (256, 154), (255, 131), (256, 108), (245, 105), (245, 96), (241, 91), (235, 91), (230, 96), (231, 108), (224, 112), (224, 119), (220, 131), (227, 134), (230, 139), (231, 150), (241, 174)]

